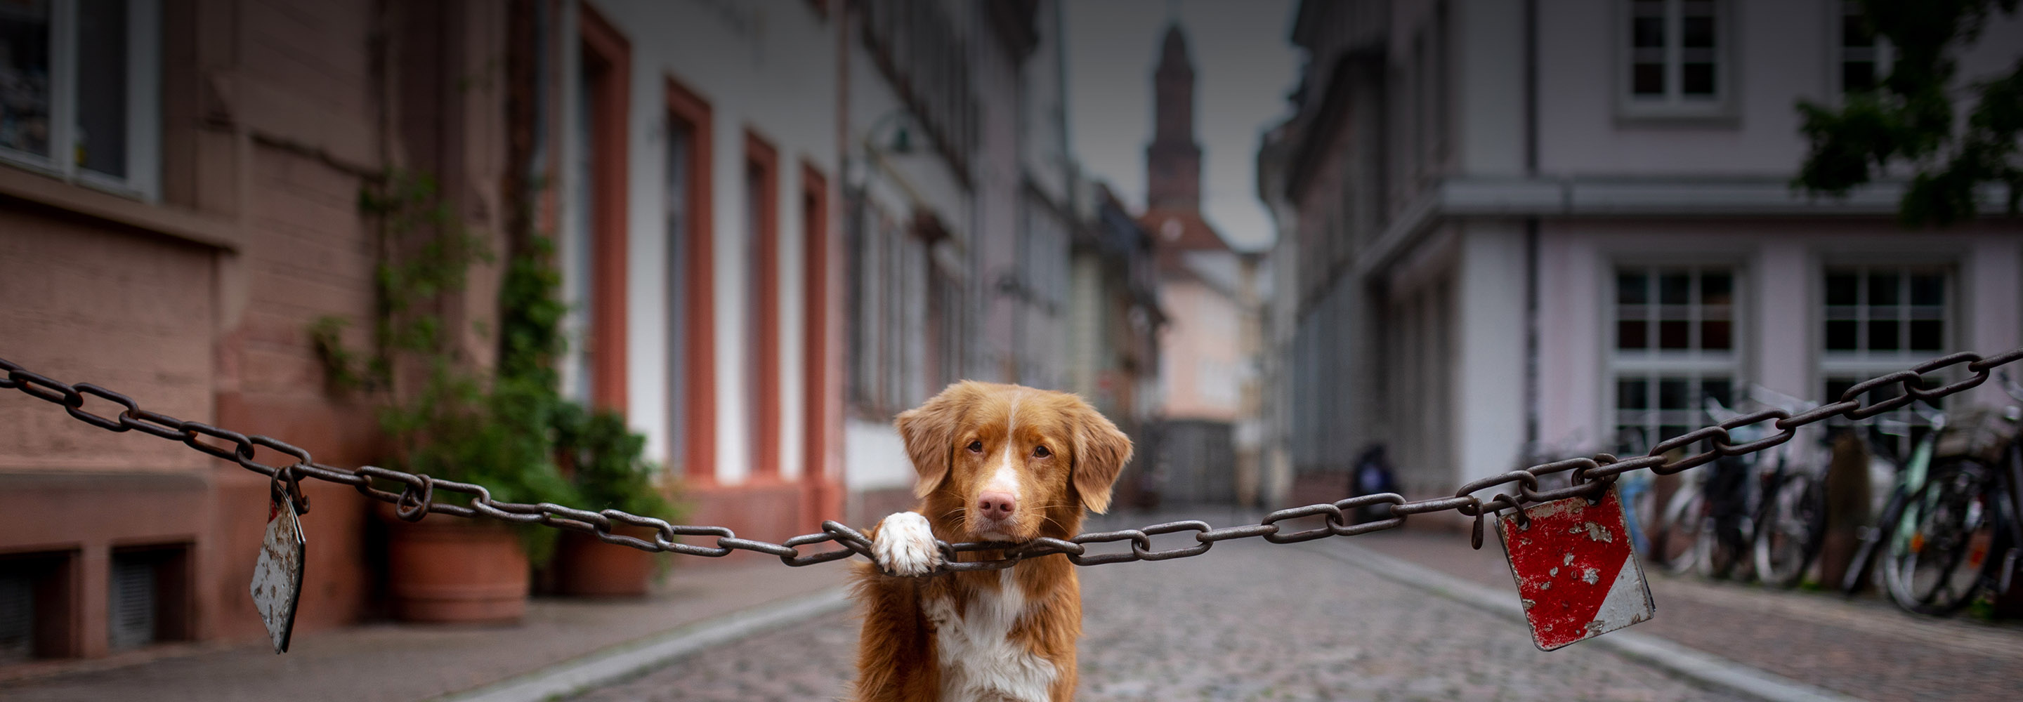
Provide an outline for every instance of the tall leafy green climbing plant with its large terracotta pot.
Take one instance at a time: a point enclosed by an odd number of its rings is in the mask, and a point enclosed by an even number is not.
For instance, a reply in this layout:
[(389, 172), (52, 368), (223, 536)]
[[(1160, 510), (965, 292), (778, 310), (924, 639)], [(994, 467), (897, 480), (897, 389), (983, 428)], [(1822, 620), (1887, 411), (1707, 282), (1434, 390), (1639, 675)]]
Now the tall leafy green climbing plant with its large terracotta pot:
[[(360, 194), (360, 210), (374, 218), (380, 251), (372, 350), (346, 348), (340, 318), (318, 320), (310, 336), (332, 386), (380, 403), (380, 431), (394, 449), (384, 465), (479, 484), (498, 502), (577, 502), (554, 463), (562, 413), (554, 326), (564, 308), (548, 247), (534, 237), (508, 261), (500, 360), (483, 368), (441, 310), (461, 295), (467, 269), (490, 259), (486, 241), (465, 231), (425, 174), (386, 174)], [(399, 619), (518, 621), (532, 564), (552, 554), (548, 528), (427, 514), (407, 522), (386, 504), (378, 514), (388, 524), (386, 593)]]

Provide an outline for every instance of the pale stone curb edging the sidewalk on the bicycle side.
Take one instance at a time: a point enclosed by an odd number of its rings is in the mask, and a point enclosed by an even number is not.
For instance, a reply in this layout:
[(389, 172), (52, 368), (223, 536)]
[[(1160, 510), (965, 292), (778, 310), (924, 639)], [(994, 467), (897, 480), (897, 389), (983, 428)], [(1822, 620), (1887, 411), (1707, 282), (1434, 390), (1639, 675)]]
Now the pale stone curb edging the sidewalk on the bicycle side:
[[(1337, 548), (1311, 548), (1311, 550), (1327, 554), (1335, 560), (1343, 560), (1351, 566), (1370, 571), (1372, 575), (1386, 581), (1410, 585), (1511, 621), (1519, 623), (1525, 621), (1523, 609), (1517, 605), (1517, 597), (1491, 591), (1483, 585), (1475, 585), (1471, 581), (1463, 581), (1453, 575), (1410, 560), (1386, 556), (1355, 544), (1339, 544)], [(1861, 702), (1859, 698), (1809, 686), (1766, 670), (1736, 664), (1720, 655), (1689, 649), (1655, 635), (1614, 631), (1608, 635), (1586, 639), (1582, 641), (1582, 645), (1598, 645), (1622, 657), (1635, 660), (1639, 664), (1661, 668), (1679, 678), (1693, 680), (1701, 686), (1720, 688), (1766, 702)]]

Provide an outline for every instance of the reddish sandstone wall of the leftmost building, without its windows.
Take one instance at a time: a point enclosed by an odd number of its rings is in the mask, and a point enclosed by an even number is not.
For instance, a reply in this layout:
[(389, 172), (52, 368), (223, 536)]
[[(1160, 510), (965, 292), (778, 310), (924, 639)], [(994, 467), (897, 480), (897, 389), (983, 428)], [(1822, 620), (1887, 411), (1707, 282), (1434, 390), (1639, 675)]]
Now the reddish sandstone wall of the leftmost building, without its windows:
[[(405, 144), (384, 134), (382, 93), (372, 89), (380, 4), (196, 0), (162, 10), (162, 202), (77, 206), (107, 194), (0, 166), (10, 194), (61, 194), (0, 208), (0, 257), (34, 261), (0, 275), (0, 299), (8, 301), (0, 305), (0, 328), (8, 330), (0, 358), (127, 392), (186, 421), (273, 435), (324, 463), (364, 463), (378, 455), (370, 407), (326, 388), (307, 338), (314, 320), (342, 316), (352, 322), (346, 340), (366, 342), (374, 245), (358, 190), (382, 168), (382, 146), (413, 146), (419, 156), (403, 162), (449, 172), (443, 192), (465, 206), (465, 225), (492, 233), (498, 178), (490, 156), (447, 160), (504, 150), (502, 95), (486, 85), (453, 95), (419, 91), (433, 101), (407, 101), (407, 117), (427, 123), (447, 115), (441, 134), (477, 146), (437, 150), (443, 144), (431, 134)], [(490, 61), (492, 53), (475, 49), (496, 47), (498, 20), (467, 14), (445, 30), (473, 49), (459, 57), (407, 57), (447, 61), (443, 73), (471, 75), (475, 69), (457, 61)], [(447, 111), (457, 103), (481, 109)], [(496, 299), (496, 277), (473, 275), (465, 305), (447, 310), (449, 324), (467, 326), (469, 301), (488, 299)], [(190, 546), (194, 637), (265, 635), (247, 583), (267, 479), (51, 409), (16, 392), (0, 397), (8, 445), (0, 451), (0, 554), (77, 552), (77, 643), (61, 653), (107, 653), (107, 558), (129, 544)], [(113, 415), (103, 401), (85, 409)], [(271, 463), (273, 455), (257, 459)], [(314, 631), (364, 611), (374, 564), (364, 554), (364, 500), (344, 486), (303, 488), (314, 504), (303, 524), (316, 546), (297, 631)]]

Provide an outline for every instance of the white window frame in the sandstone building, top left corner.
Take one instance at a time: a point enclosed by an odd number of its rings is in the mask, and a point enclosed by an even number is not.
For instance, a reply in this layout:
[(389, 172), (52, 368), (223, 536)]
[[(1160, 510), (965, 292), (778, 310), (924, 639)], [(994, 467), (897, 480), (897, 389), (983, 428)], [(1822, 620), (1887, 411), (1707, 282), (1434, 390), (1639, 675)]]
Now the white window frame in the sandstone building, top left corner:
[(160, 202), (162, 198), (162, 4), (127, 2), (127, 176), (85, 170), (61, 154), (77, 148), (77, 6), (49, 4), (49, 146), (53, 154), (0, 146), (0, 164), (34, 170), (95, 190)]

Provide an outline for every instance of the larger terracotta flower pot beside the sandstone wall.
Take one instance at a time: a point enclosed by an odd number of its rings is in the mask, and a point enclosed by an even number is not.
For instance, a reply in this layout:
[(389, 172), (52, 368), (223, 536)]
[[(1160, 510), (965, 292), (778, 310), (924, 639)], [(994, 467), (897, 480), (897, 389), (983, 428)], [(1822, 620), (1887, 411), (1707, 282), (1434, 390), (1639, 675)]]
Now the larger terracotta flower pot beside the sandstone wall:
[(514, 623), (526, 615), (530, 579), (518, 534), (445, 514), (401, 522), (390, 508), (382, 512), (394, 619)]

